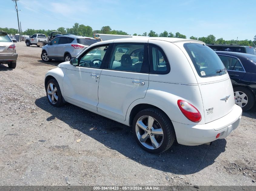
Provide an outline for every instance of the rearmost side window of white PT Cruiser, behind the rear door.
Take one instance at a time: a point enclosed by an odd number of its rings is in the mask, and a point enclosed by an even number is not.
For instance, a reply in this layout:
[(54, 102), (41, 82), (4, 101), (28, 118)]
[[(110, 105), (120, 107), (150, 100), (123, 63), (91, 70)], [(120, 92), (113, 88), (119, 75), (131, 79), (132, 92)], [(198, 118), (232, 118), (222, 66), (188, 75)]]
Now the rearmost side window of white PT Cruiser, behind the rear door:
[(149, 46), (150, 73), (167, 74), (170, 64), (164, 51), (155, 45)]

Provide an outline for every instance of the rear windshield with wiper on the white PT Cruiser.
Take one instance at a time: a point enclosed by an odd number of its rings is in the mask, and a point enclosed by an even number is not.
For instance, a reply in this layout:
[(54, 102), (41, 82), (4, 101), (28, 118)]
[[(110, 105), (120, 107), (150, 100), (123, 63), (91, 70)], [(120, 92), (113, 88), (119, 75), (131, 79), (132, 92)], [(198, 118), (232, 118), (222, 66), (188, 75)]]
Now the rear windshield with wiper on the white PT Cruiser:
[(210, 47), (200, 43), (185, 43), (184, 48), (200, 77), (205, 78), (227, 73), (221, 59)]

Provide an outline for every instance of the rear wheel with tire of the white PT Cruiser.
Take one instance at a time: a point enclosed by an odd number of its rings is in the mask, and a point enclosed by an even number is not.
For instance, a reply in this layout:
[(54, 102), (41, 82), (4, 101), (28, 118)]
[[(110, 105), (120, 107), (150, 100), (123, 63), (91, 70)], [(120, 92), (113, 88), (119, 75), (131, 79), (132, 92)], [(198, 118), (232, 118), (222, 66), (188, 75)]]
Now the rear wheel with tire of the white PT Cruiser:
[(133, 120), (133, 135), (145, 151), (161, 153), (175, 140), (175, 130), (164, 112), (150, 108), (140, 111)]

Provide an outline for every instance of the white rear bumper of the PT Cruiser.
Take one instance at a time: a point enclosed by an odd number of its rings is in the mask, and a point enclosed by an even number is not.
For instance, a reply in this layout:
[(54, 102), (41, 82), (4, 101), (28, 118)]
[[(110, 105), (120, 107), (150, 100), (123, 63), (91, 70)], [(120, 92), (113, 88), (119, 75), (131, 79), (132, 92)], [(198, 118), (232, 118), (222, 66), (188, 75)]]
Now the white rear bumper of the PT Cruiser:
[[(186, 125), (183, 123), (172, 122), (176, 138), (181, 145), (202, 145), (220, 138), (226, 138), (240, 123), (242, 115), (241, 107), (234, 105), (233, 110), (210, 123), (203, 125)], [(216, 135), (220, 136), (216, 138)]]

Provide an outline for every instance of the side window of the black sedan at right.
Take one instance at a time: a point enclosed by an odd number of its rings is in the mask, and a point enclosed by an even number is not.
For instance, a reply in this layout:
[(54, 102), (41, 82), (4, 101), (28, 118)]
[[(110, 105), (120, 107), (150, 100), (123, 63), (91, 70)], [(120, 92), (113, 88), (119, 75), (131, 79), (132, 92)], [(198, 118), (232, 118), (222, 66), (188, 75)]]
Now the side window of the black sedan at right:
[(218, 55), (227, 70), (245, 72), (241, 62), (234, 57)]

